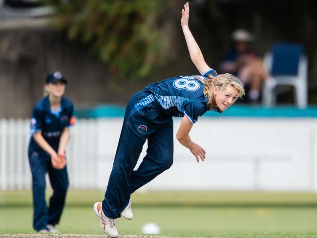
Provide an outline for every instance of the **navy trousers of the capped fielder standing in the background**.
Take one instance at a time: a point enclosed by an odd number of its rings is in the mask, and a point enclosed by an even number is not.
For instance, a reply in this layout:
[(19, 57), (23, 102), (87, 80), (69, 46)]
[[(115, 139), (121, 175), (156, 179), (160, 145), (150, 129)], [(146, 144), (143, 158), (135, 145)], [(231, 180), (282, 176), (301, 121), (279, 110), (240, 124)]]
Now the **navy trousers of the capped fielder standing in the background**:
[[(32, 172), (33, 192), (33, 228), (36, 231), (46, 229), (47, 224), (58, 224), (62, 216), (68, 188), (67, 168), (57, 170), (52, 167), (50, 158), (39, 156), (36, 151), (30, 152), (29, 162)], [(53, 195), (47, 208), (45, 201), (45, 174), (48, 173)]]

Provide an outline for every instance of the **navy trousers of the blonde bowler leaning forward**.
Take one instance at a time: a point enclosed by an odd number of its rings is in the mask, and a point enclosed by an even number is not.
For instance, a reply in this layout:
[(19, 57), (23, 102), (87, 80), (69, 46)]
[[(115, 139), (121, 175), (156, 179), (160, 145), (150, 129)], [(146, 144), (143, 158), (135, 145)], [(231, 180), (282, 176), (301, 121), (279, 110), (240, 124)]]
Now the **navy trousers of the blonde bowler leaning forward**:
[[(118, 218), (127, 207), (130, 195), (173, 163), (173, 121), (150, 93), (135, 93), (128, 102), (102, 208), (107, 217)], [(140, 103), (141, 101), (141, 103)], [(136, 106), (139, 105), (139, 106)], [(140, 109), (139, 109), (140, 108)], [(147, 155), (133, 170), (144, 143)]]

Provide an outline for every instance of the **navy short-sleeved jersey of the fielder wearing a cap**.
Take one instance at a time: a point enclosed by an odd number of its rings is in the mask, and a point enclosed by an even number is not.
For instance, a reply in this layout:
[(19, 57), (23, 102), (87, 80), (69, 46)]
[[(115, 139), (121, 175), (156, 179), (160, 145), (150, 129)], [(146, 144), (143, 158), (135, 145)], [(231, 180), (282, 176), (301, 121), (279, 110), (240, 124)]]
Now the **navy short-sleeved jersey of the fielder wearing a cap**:
[(34, 140), (33, 133), (42, 131), (43, 138), (52, 148), (57, 151), (60, 143), (60, 137), (65, 127), (75, 124), (74, 106), (68, 99), (62, 97), (61, 108), (55, 112), (52, 111), (48, 96), (43, 97), (35, 105), (31, 119), (31, 139), (29, 144), (29, 153), (38, 152), (41, 156), (49, 156)]

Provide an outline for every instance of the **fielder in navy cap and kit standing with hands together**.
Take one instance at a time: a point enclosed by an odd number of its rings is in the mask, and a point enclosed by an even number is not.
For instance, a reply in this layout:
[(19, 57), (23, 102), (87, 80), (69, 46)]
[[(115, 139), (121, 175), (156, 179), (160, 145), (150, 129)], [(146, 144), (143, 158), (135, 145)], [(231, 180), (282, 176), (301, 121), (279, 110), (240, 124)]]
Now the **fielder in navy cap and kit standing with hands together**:
[[(67, 81), (59, 71), (47, 75), (43, 97), (33, 109), (28, 157), (32, 172), (33, 228), (41, 233), (58, 233), (68, 188), (65, 148), (74, 125), (73, 104), (63, 97)], [(54, 190), (47, 208), (45, 174)]]

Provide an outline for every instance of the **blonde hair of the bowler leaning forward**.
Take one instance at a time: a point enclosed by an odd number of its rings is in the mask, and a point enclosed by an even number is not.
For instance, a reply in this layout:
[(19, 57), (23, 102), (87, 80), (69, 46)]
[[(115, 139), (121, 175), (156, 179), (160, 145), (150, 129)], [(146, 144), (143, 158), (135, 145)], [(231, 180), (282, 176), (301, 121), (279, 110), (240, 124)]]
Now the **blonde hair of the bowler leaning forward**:
[(208, 99), (207, 107), (209, 110), (217, 106), (214, 95), (215, 87), (217, 87), (218, 90), (224, 90), (226, 87), (232, 86), (238, 90), (239, 98), (245, 95), (244, 85), (241, 83), (238, 77), (232, 74), (218, 74), (216, 77), (208, 74), (205, 81), (202, 80), (200, 77), (197, 77), (197, 79), (205, 85), (204, 94)]

